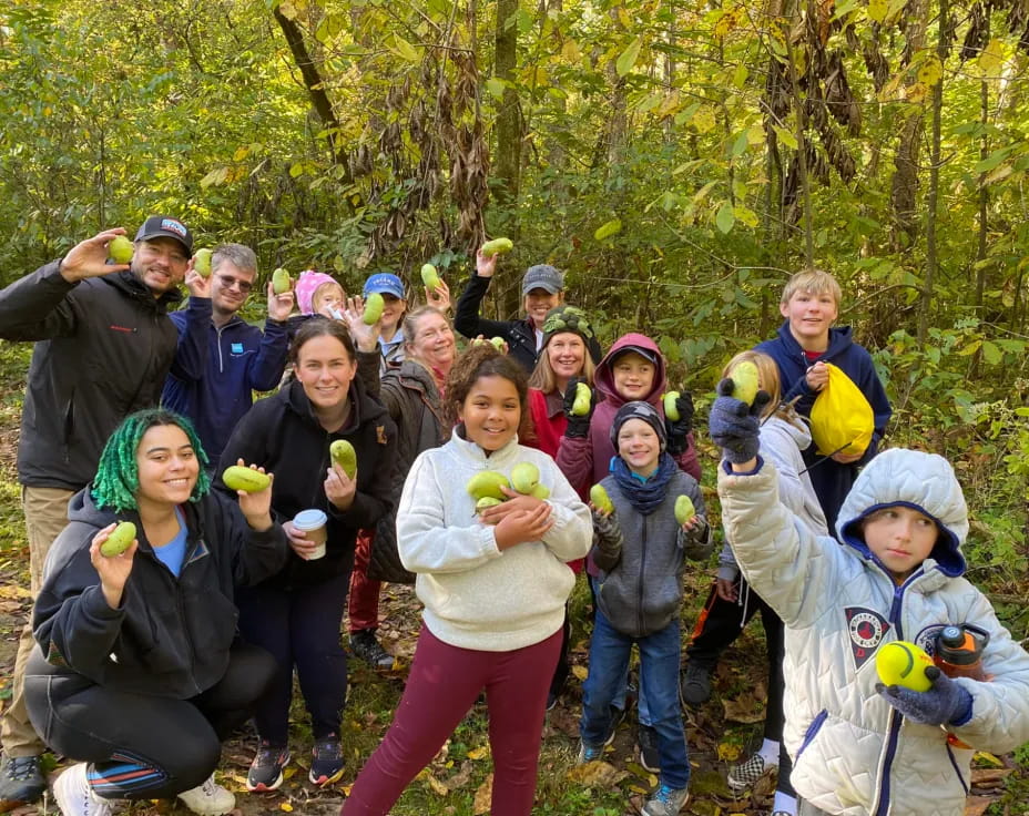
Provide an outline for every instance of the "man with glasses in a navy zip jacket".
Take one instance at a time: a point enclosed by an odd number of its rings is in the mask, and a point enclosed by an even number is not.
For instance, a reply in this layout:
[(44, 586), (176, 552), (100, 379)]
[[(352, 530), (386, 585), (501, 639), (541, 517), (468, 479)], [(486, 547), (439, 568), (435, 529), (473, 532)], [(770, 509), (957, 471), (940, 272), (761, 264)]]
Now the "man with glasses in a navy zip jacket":
[[(293, 310), (293, 290), (276, 295), (269, 280), (264, 332), (240, 317), (257, 277), (249, 247), (222, 244), (211, 269), (211, 297), (191, 297), (187, 308), (171, 315), (182, 339), (162, 398), (196, 426), (208, 468), (217, 465), (233, 428), (253, 405), (253, 392), (269, 391), (282, 379)], [(206, 330), (191, 330), (195, 326)]]

